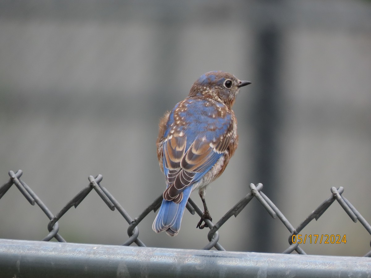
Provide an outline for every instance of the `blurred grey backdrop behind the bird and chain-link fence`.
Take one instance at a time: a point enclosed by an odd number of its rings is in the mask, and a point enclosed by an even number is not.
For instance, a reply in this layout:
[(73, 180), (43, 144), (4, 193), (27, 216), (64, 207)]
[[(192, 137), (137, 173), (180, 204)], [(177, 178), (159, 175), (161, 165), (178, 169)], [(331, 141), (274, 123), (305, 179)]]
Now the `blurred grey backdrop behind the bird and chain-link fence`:
[[(264, 59), (272, 50), (259, 41), (271, 29), (278, 36), (272, 65)], [(225, 70), (253, 84), (234, 106), (239, 149), (207, 192), (213, 218), (249, 183), (263, 182), (294, 226), (332, 186), (344, 186), (371, 222), (370, 45), (370, 1), (0, 1), (0, 183), (22, 169), (23, 181), (56, 214), (100, 173), (134, 218), (165, 188), (155, 153), (158, 119), (204, 72)], [(275, 114), (259, 98), (272, 82), (262, 63), (274, 70)], [(259, 126), (277, 119), (274, 151), (264, 156)], [(256, 169), (261, 156), (273, 179)], [(201, 205), (196, 193), (193, 199)], [(185, 213), (175, 238), (155, 234), (154, 217), (139, 225), (148, 246), (206, 244), (198, 217)], [(0, 200), (1, 238), (39, 240), (47, 223), (16, 188)], [(287, 230), (257, 202), (227, 224), (220, 229), (227, 250), (287, 247)], [(63, 216), (60, 234), (120, 244), (127, 226), (92, 193)], [(303, 232), (347, 234), (346, 245), (307, 244), (310, 254), (369, 251), (370, 235), (337, 204)]]

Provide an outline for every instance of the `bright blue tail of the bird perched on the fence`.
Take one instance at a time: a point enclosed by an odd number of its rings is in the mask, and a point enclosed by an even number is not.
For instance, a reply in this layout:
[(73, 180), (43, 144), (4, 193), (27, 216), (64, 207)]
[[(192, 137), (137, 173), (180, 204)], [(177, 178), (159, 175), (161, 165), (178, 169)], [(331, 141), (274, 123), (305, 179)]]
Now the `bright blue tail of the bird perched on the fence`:
[(165, 231), (170, 236), (178, 234), (185, 205), (187, 204), (192, 188), (193, 185), (183, 190), (183, 199), (180, 203), (162, 200), (161, 207), (152, 225), (152, 229), (155, 232)]

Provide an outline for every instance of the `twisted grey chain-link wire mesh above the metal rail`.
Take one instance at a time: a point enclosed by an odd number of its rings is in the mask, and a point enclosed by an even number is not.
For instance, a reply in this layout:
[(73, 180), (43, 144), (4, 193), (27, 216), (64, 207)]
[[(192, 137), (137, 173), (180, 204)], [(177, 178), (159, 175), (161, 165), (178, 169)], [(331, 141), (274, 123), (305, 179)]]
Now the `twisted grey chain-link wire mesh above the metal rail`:
[[(124, 217), (124, 219), (128, 222), (129, 227), (127, 230), (129, 238), (122, 244), (122, 245), (131, 245), (133, 242), (142, 247), (146, 247), (146, 245), (138, 238), (139, 223), (151, 212), (156, 211), (162, 201), (162, 194), (154, 200), (138, 217), (131, 218), (131, 216), (125, 211), (125, 209), (120, 205), (120, 203), (115, 199), (114, 196), (109, 193), (109, 191), (102, 186), (100, 183), (103, 179), (102, 175), (98, 175), (95, 178), (93, 176), (89, 176), (89, 184), (83, 188), (79, 193), (76, 194), (56, 215), (54, 215), (47, 206), (41, 201), (41, 199), (32, 191), (32, 189), (23, 182), (20, 177), (22, 176), (22, 170), (18, 170), (16, 173), (13, 171), (9, 171), (10, 179), (6, 183), (4, 183), (0, 187), (0, 199), (5, 195), (5, 193), (9, 190), (12, 185), (15, 185), (19, 191), (23, 194), (23, 196), (27, 199), (27, 201), (31, 205), (35, 205), (35, 203), (40, 207), (40, 209), (44, 212), (44, 214), (49, 218), (49, 223), (47, 225), (47, 229), (49, 234), (42, 239), (42, 241), (50, 241), (51, 239), (55, 238), (59, 242), (66, 242), (65, 239), (58, 233), (59, 231), (59, 224), (58, 220), (62, 218), (62, 216), (70, 209), (72, 206), (75, 208), (85, 199), (85, 197), (92, 191), (95, 190), (98, 193), (99, 197), (106, 203), (111, 211), (117, 209), (119, 213)], [(311, 214), (308, 215), (304, 219), (304, 221), (299, 224), (297, 228), (288, 221), (288, 219), (282, 214), (282, 212), (277, 208), (277, 206), (270, 201), (270, 199), (262, 192), (263, 185), (258, 183), (256, 186), (251, 183), (249, 185), (250, 192), (247, 193), (239, 202), (236, 203), (216, 224), (213, 224), (209, 219), (205, 219), (206, 225), (209, 227), (210, 231), (207, 235), (207, 239), (209, 241), (208, 244), (204, 246), (203, 249), (209, 250), (211, 248), (216, 248), (220, 251), (225, 251), (223, 246), (219, 243), (219, 228), (228, 221), (230, 217), (237, 215), (244, 209), (244, 207), (255, 197), (259, 203), (266, 209), (272, 218), (280, 219), (283, 225), (288, 229), (290, 232), (289, 235), (289, 247), (283, 251), (283, 254), (290, 254), (293, 251), (296, 251), (298, 254), (306, 254), (304, 250), (299, 246), (299, 242), (297, 241), (295, 244), (292, 243), (292, 236), (298, 235), (313, 219), (318, 220), (322, 214), (332, 205), (332, 203), (336, 200), (339, 202), (341, 207), (344, 211), (349, 215), (353, 222), (361, 222), (367, 232), (371, 235), (371, 226), (370, 224), (364, 219), (364, 217), (355, 209), (355, 207), (344, 197), (342, 193), (344, 192), (343, 187), (331, 188), (332, 195), (327, 198), (324, 202), (321, 203)], [(191, 198), (188, 199), (188, 203), (186, 208), (191, 214), (197, 213), (199, 216), (203, 215), (203, 211), (193, 202)], [(370, 242), (371, 245), (371, 242)], [(364, 255), (364, 257), (371, 257), (371, 251)]]

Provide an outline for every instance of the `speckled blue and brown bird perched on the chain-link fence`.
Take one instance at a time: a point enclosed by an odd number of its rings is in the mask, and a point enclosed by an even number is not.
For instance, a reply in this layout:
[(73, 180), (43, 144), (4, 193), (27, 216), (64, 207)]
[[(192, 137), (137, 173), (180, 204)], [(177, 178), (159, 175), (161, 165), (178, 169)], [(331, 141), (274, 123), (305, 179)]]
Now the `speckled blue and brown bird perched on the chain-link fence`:
[(153, 222), (156, 233), (175, 236), (190, 193), (198, 189), (204, 206), (196, 228), (205, 219), (206, 187), (218, 178), (237, 149), (237, 119), (232, 110), (241, 87), (251, 84), (223, 71), (201, 75), (188, 97), (160, 119), (157, 158), (165, 175), (166, 189)]

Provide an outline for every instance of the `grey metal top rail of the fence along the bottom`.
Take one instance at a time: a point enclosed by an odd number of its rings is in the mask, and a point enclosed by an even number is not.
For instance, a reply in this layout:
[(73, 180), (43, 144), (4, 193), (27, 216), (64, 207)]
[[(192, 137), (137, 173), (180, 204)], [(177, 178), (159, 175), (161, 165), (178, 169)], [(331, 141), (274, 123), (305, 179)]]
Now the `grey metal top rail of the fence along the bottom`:
[(371, 258), (0, 239), (0, 277), (371, 277)]

